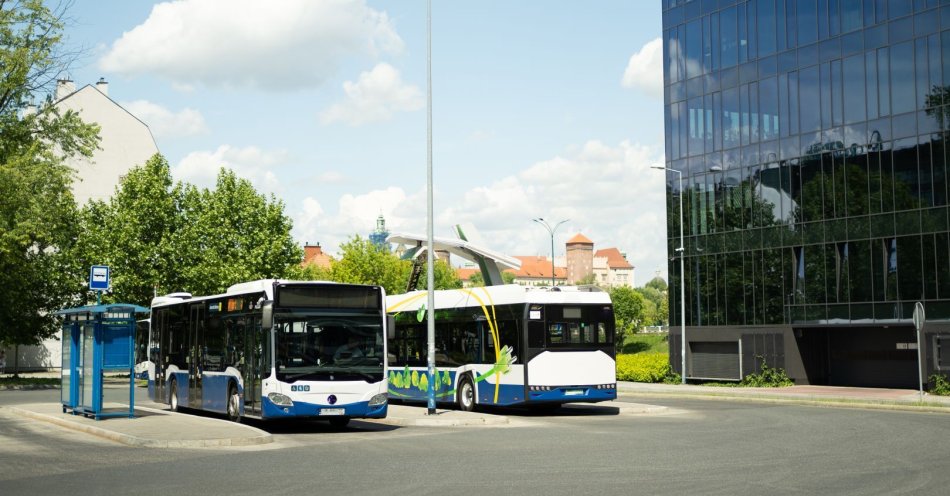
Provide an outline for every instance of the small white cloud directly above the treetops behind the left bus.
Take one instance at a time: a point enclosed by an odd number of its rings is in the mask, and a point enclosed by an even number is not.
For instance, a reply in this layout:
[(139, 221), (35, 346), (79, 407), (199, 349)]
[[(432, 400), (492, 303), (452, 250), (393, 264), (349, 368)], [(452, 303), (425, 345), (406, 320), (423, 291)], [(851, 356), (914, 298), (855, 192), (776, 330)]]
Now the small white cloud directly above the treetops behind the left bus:
[(172, 174), (180, 181), (212, 188), (218, 171), (224, 167), (250, 181), (259, 192), (280, 193), (282, 187), (274, 169), (286, 163), (287, 159), (288, 154), (284, 150), (265, 151), (254, 146), (235, 148), (221, 145), (213, 152), (189, 153), (175, 166)]

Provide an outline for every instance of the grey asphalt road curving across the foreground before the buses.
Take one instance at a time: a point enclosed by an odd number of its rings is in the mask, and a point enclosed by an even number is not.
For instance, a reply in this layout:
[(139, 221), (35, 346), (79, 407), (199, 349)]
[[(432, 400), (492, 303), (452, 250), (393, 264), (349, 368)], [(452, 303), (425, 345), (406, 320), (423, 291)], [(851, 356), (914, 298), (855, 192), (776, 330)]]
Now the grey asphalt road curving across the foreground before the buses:
[[(0, 405), (58, 391), (0, 391)], [(946, 494), (945, 414), (631, 401), (503, 427), (263, 424), (240, 449), (130, 448), (0, 416), (0, 494)]]

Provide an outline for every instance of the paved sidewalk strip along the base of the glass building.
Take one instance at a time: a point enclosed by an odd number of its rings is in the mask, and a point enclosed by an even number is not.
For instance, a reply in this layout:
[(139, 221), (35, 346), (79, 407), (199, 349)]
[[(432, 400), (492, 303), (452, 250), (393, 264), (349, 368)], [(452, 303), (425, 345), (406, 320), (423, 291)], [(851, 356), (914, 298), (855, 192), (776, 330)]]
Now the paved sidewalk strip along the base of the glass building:
[(889, 408), (950, 413), (950, 396), (923, 395), (913, 389), (881, 389), (836, 386), (789, 386), (783, 388), (747, 388), (702, 386), (693, 384), (647, 384), (618, 382), (619, 396), (652, 396), (751, 401), (794, 402), (800, 404)]

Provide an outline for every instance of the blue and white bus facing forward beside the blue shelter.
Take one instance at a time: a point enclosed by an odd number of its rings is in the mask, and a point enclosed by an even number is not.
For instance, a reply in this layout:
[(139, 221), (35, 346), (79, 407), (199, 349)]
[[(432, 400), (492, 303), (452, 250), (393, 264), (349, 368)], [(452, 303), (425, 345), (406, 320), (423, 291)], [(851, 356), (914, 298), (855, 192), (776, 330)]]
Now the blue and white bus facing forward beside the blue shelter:
[(152, 301), (153, 401), (234, 421), (386, 416), (379, 286), (265, 279)]

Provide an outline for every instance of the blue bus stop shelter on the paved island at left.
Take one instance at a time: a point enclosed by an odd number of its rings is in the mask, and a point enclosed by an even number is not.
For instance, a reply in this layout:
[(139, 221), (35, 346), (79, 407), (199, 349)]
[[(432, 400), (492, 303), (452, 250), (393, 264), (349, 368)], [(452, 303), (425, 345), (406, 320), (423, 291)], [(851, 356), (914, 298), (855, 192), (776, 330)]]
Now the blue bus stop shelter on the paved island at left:
[[(63, 413), (134, 417), (136, 314), (149, 309), (128, 303), (91, 305), (55, 312), (63, 316), (63, 363), (60, 399)], [(129, 407), (106, 409), (106, 373), (129, 374)]]

